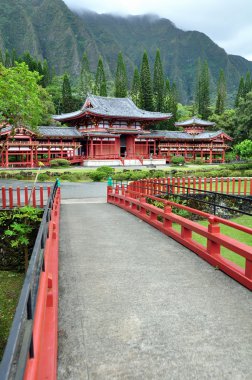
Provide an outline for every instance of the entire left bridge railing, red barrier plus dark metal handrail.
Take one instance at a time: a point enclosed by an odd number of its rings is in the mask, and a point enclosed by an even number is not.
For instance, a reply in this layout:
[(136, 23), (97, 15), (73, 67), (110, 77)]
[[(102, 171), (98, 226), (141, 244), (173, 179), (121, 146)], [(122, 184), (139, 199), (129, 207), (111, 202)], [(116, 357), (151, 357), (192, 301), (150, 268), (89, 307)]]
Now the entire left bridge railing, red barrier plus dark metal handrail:
[(60, 188), (56, 181), (37, 234), (0, 379), (56, 379)]

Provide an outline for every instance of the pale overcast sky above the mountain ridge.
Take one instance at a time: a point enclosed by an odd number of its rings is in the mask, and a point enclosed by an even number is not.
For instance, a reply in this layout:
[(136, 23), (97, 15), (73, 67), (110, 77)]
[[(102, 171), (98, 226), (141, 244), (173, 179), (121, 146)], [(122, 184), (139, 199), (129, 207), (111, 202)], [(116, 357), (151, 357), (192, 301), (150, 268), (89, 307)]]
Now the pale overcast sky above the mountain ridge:
[(64, 0), (69, 8), (120, 15), (157, 14), (207, 34), (229, 54), (252, 61), (252, 0)]

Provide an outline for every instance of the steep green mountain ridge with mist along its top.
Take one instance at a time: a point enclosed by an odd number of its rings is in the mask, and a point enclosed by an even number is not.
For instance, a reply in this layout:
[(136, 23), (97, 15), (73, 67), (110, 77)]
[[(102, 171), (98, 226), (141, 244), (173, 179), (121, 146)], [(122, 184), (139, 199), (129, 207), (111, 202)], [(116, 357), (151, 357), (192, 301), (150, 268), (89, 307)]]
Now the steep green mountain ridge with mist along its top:
[(117, 55), (122, 51), (129, 78), (140, 67), (146, 49), (153, 66), (160, 49), (165, 75), (177, 84), (182, 102), (193, 99), (197, 61), (207, 60), (211, 86), (215, 88), (219, 70), (225, 71), (228, 91), (237, 91), (241, 75), (252, 74), (252, 62), (228, 55), (205, 34), (183, 31), (167, 19), (153, 15), (114, 16), (71, 11), (62, 0), (0, 0), (0, 49), (29, 51), (46, 58), (57, 74), (80, 72), (87, 52), (95, 72), (101, 55), (107, 75), (114, 76)]

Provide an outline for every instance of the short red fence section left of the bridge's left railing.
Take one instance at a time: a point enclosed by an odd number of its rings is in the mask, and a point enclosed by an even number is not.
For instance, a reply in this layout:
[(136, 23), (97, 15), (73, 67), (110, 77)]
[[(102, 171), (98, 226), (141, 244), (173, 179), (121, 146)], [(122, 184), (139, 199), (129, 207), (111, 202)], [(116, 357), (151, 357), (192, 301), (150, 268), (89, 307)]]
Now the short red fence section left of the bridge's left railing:
[(29, 189), (27, 186), (9, 187), (5, 186), (1, 189), (0, 209), (11, 209), (13, 207), (22, 207), (31, 205), (33, 207), (43, 208), (50, 196), (51, 187), (40, 186), (38, 188)]

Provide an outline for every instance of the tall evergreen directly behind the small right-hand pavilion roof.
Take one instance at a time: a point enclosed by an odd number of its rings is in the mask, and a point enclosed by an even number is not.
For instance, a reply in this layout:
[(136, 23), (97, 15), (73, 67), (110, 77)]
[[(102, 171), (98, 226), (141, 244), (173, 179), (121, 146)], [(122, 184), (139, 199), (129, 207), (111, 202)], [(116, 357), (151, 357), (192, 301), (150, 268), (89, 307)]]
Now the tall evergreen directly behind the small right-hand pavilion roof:
[(199, 115), (203, 119), (207, 119), (210, 108), (210, 74), (207, 61), (203, 64), (199, 61), (196, 87), (196, 106)]

